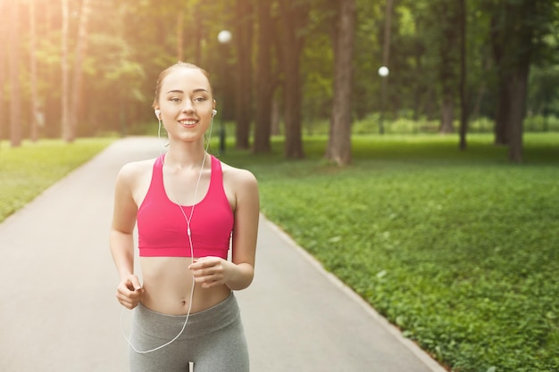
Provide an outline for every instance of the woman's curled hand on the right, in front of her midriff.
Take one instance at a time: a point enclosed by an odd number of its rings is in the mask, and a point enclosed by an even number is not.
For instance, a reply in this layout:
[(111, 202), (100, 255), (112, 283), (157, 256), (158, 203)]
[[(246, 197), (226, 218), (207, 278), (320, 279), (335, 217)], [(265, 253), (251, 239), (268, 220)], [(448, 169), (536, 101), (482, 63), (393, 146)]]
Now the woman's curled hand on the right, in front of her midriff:
[(203, 257), (195, 260), (188, 266), (197, 284), (203, 288), (212, 288), (216, 285), (227, 285), (229, 277), (234, 270), (234, 265), (221, 259), (221, 257)]

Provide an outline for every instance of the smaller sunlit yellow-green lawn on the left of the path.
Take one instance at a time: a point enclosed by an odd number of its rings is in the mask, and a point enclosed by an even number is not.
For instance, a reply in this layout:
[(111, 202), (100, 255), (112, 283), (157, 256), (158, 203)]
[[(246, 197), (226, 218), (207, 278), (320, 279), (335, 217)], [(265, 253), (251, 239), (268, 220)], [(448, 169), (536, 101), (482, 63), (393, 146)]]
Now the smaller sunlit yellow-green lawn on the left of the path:
[(99, 153), (114, 138), (0, 143), (0, 222), (29, 203), (48, 186)]

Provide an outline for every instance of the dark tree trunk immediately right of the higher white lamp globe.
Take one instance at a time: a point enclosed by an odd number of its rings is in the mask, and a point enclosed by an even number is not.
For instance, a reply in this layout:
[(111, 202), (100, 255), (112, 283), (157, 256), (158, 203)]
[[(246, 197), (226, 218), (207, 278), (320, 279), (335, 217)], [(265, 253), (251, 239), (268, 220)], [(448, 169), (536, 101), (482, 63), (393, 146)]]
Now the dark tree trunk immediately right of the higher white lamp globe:
[(237, 0), (237, 82), (236, 89), (236, 146), (248, 149), (252, 120), (252, 35), (253, 9), (249, 0)]

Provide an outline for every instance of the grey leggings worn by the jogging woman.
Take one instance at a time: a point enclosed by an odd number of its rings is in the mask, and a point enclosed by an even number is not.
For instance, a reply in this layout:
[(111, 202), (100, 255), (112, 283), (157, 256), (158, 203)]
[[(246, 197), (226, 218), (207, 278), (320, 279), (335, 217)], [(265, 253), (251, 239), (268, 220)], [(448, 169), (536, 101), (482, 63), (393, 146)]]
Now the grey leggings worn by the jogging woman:
[[(186, 316), (166, 315), (141, 303), (134, 310), (130, 342), (138, 351), (154, 349), (179, 334)], [(129, 349), (130, 372), (247, 372), (248, 350), (237, 299), (190, 314), (187, 327), (173, 343), (148, 353)]]

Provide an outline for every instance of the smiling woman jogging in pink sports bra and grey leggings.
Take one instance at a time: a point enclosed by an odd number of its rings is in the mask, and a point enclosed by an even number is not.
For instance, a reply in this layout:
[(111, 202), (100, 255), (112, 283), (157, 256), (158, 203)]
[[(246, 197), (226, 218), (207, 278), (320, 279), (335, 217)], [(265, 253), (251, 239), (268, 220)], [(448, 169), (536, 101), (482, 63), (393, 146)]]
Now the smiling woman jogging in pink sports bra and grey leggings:
[(233, 291), (254, 277), (256, 179), (206, 151), (215, 101), (204, 70), (184, 62), (163, 70), (154, 113), (168, 151), (122, 167), (110, 235), (121, 278), (116, 297), (134, 309), (130, 371), (248, 371)]

